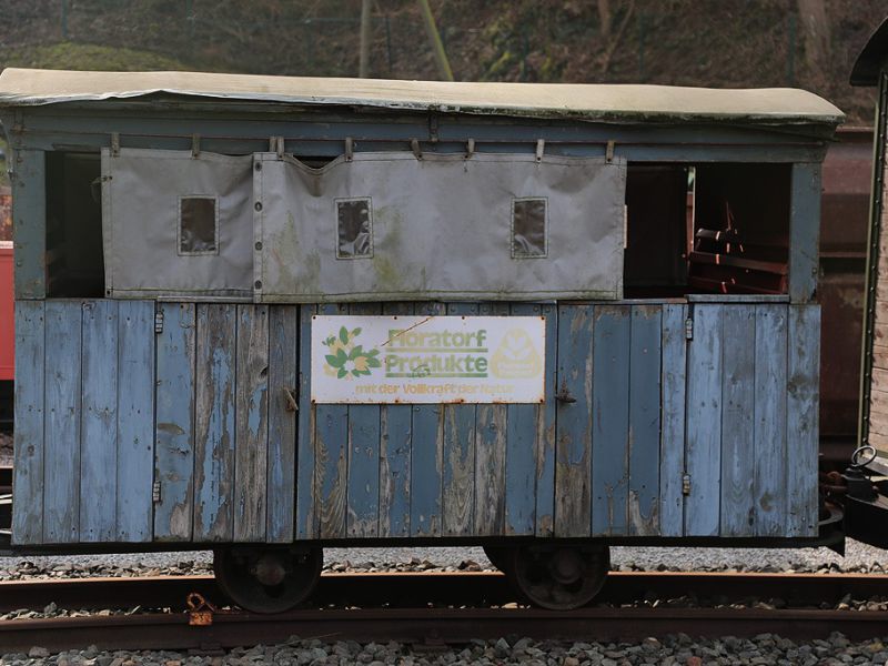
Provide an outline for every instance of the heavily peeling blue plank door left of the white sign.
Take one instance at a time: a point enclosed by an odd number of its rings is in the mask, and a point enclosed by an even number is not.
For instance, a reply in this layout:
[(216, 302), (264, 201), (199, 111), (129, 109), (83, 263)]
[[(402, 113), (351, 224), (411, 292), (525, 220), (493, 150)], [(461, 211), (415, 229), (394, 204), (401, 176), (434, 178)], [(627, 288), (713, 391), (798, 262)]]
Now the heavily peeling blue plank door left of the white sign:
[(158, 309), (154, 538), (292, 541), (296, 307)]

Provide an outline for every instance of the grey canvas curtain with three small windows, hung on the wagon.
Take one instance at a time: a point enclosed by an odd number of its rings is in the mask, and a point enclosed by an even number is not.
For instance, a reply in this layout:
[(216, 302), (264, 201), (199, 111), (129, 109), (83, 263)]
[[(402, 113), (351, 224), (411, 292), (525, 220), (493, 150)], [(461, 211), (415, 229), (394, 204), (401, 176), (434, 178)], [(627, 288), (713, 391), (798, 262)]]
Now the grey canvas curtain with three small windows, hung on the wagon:
[(622, 160), (355, 153), (102, 157), (114, 296), (619, 299)]

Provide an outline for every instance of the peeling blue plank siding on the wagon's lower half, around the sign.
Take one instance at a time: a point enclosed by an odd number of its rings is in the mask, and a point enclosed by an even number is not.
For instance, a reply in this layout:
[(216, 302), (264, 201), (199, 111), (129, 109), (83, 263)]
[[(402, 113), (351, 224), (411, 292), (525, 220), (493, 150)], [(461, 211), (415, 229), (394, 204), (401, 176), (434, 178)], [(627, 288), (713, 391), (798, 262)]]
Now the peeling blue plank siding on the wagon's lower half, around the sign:
[[(313, 405), (316, 312), (542, 316), (545, 402)], [(16, 543), (813, 536), (818, 331), (754, 302), (21, 301)]]

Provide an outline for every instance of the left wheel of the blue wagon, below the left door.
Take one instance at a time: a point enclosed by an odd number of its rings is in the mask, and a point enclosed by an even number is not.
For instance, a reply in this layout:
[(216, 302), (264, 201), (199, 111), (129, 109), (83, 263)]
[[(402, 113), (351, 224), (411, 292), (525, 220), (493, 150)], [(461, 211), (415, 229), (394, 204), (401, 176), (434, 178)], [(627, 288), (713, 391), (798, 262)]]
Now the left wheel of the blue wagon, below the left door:
[(219, 587), (254, 613), (289, 610), (314, 591), (323, 564), (321, 548), (230, 547), (213, 553)]

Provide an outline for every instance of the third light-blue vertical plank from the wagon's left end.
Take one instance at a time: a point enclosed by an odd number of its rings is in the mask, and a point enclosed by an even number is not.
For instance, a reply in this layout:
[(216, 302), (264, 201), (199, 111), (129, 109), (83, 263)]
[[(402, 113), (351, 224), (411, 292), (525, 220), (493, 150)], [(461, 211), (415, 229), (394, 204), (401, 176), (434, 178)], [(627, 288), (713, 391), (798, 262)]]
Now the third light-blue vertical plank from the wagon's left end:
[(82, 317), (80, 541), (109, 542), (117, 535), (118, 303), (85, 302)]

